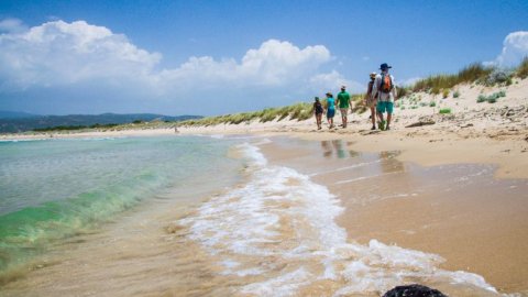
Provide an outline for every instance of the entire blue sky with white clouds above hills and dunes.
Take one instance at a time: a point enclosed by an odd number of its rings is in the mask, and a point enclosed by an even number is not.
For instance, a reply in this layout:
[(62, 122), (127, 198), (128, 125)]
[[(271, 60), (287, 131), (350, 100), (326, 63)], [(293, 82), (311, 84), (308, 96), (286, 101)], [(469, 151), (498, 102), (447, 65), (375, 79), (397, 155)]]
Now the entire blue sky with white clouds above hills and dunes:
[(528, 54), (528, 1), (0, 1), (0, 110), (220, 114)]

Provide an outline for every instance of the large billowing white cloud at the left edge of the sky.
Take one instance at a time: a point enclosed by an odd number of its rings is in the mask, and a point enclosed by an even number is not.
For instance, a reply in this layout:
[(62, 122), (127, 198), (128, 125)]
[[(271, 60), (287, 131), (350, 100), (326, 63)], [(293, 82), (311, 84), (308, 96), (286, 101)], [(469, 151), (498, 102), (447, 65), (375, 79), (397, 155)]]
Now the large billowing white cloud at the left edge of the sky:
[(0, 35), (0, 79), (4, 88), (145, 78), (161, 57), (138, 48), (124, 35), (85, 21), (47, 22)]

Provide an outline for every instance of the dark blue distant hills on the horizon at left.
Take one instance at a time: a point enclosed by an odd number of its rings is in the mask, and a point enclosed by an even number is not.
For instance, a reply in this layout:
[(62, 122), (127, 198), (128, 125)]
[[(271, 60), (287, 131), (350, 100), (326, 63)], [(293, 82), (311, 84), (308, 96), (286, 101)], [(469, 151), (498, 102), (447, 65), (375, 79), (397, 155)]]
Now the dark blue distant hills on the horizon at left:
[(154, 113), (102, 113), (102, 114), (68, 114), (36, 116), (24, 112), (0, 111), (0, 133), (16, 133), (52, 127), (122, 124), (134, 121), (185, 121), (200, 119), (200, 116), (163, 116)]

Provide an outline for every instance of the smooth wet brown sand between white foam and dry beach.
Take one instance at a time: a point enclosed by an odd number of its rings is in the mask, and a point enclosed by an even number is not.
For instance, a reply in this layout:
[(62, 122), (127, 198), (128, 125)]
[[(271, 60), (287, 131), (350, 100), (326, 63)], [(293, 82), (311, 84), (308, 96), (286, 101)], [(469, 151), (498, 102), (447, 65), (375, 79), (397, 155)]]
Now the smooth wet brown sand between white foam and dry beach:
[(435, 253), (446, 270), (528, 294), (527, 179), (495, 179), (493, 165), (421, 167), (398, 161), (398, 151), (358, 153), (342, 140), (282, 139), (262, 148), (338, 195), (350, 240)]

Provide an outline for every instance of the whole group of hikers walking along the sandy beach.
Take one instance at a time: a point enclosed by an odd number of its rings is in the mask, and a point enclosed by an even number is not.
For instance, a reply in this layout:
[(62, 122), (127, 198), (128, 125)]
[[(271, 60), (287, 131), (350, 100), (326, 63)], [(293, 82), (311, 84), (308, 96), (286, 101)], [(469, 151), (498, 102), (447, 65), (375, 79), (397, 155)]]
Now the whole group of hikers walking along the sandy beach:
[[(371, 109), (372, 130), (391, 130), (391, 120), (394, 110), (394, 100), (396, 99), (396, 87), (394, 86), (394, 77), (388, 74), (388, 69), (392, 66), (383, 63), (380, 66), (381, 73), (370, 74), (371, 81), (369, 81), (369, 88), (364, 97), (364, 105)], [(341, 86), (341, 91), (337, 98), (333, 98), (331, 92), (326, 94), (324, 105), (319, 97), (316, 97), (314, 103), (314, 114), (317, 120), (317, 129), (321, 130), (322, 114), (327, 114), (327, 120), (330, 129), (334, 128), (333, 117), (336, 116), (336, 107), (339, 108), (341, 113), (341, 125), (346, 128), (349, 109), (352, 111), (352, 103), (350, 100), (350, 94), (346, 91), (345, 86)], [(387, 113), (385, 120), (384, 113)]]

